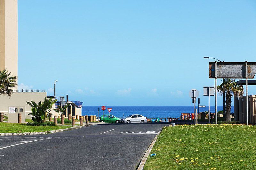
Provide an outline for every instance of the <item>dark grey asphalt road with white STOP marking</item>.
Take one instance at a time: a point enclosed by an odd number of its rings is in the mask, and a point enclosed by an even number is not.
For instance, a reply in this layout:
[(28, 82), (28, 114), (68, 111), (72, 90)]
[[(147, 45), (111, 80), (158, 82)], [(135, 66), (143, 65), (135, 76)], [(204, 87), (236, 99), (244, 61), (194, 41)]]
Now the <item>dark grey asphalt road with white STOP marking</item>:
[(167, 123), (101, 124), (0, 137), (1, 169), (136, 169)]

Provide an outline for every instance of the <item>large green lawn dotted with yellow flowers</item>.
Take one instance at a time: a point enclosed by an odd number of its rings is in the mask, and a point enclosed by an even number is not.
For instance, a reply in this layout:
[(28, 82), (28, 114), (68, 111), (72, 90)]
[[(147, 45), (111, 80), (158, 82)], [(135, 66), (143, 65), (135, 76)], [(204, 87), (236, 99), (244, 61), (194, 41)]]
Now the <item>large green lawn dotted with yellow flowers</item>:
[(256, 126), (164, 128), (144, 169), (255, 169)]

